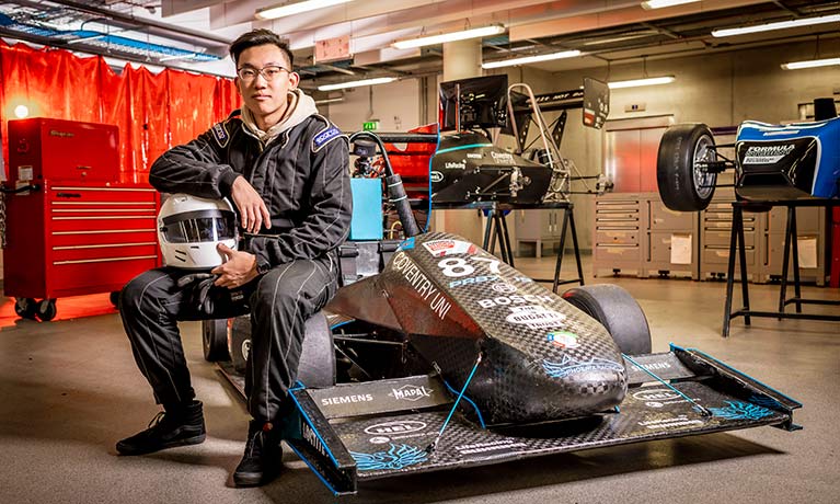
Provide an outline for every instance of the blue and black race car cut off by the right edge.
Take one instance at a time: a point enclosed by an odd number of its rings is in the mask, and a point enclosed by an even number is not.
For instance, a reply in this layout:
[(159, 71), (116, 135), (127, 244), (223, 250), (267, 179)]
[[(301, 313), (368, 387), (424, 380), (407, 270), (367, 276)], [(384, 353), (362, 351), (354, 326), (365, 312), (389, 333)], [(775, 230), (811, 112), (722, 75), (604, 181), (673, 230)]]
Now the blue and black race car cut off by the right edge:
[[(717, 173), (735, 169), (740, 199), (779, 202), (837, 198), (840, 195), (840, 117), (831, 99), (815, 100), (830, 108), (822, 121), (774, 125), (745, 121), (733, 145), (715, 146), (704, 124), (669, 127), (659, 142), (656, 179), (659, 195), (672, 210), (709, 206)], [(830, 104), (827, 102), (830, 101)], [(735, 148), (735, 159), (717, 149)]]

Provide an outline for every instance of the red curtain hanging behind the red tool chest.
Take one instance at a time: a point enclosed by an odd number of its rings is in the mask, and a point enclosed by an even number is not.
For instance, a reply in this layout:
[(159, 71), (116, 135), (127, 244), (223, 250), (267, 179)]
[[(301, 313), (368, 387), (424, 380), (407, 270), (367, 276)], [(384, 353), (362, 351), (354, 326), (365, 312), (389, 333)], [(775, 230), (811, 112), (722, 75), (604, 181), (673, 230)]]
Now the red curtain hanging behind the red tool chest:
[(231, 79), (166, 69), (152, 75), (126, 66), (117, 76), (102, 57), (64, 49), (9, 46), (0, 41), (0, 119), (8, 158), (8, 121), (28, 117), (119, 127), (120, 179), (145, 182), (154, 159), (185, 144), (240, 106)]

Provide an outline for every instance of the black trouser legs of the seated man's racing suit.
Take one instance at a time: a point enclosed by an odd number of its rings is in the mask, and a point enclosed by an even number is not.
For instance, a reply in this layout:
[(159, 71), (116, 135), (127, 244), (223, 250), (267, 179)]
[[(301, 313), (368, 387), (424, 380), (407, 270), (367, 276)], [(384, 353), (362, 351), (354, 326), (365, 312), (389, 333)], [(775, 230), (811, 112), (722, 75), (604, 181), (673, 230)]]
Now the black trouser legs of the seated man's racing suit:
[(337, 266), (329, 257), (281, 264), (231, 289), (212, 286), (207, 310), (195, 302), (195, 284), (179, 287), (193, 272), (172, 267), (148, 271), (122, 291), (119, 310), (137, 366), (164, 409), (195, 399), (179, 321), (226, 319), (251, 313), (251, 354), (245, 391), (248, 410), (260, 421), (281, 411), (297, 379), (303, 324), (337, 288)]

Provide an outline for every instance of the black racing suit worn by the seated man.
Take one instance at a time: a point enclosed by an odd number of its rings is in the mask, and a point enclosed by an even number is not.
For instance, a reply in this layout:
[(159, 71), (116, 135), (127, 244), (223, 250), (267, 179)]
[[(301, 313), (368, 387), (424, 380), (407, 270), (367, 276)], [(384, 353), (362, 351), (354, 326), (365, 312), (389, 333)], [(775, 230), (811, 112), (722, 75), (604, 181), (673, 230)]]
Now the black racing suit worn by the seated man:
[(189, 271), (151, 270), (123, 289), (123, 325), (137, 365), (164, 409), (195, 398), (177, 321), (250, 311), (249, 412), (268, 422), (284, 411), (297, 376), (304, 321), (336, 290), (335, 251), (349, 232), (353, 205), (348, 162), (347, 137), (320, 115), (263, 148), (237, 113), (154, 161), (149, 182), (161, 192), (227, 197), (242, 175), (272, 216), (271, 229), (263, 228), (240, 248), (256, 255), (257, 278), (233, 291), (212, 286), (209, 308), (195, 302), (194, 285), (177, 286), (179, 278), (194, 273)]

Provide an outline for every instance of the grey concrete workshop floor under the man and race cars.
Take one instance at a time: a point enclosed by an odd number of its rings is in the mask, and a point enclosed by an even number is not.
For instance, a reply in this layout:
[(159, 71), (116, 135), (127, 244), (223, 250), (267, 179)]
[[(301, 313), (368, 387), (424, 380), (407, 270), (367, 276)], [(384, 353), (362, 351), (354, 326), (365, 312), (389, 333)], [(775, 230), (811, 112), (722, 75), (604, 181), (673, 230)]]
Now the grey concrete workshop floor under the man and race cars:
[[(571, 266), (572, 262), (565, 263)], [(551, 259), (520, 259), (548, 276)], [(591, 271), (585, 262), (585, 271)], [(565, 267), (564, 267), (565, 270)], [(182, 325), (208, 428), (203, 445), (118, 457), (114, 443), (157, 413), (107, 295), (59, 299), (51, 322), (0, 308), (0, 503), (698, 503), (840, 502), (838, 385), (840, 323), (743, 319), (720, 336), (725, 284), (607, 277), (630, 290), (648, 318), (654, 351), (699, 347), (804, 403), (803, 431), (760, 427), (549, 456), (497, 466), (366, 483), (336, 499), (290, 450), (281, 477), (235, 489), (248, 415), (204, 362), (199, 325)], [(753, 309), (772, 310), (779, 287), (751, 285)], [(806, 287), (804, 297), (840, 299)], [(837, 307), (806, 307), (838, 313)], [(101, 313), (76, 318), (80, 312)]]

